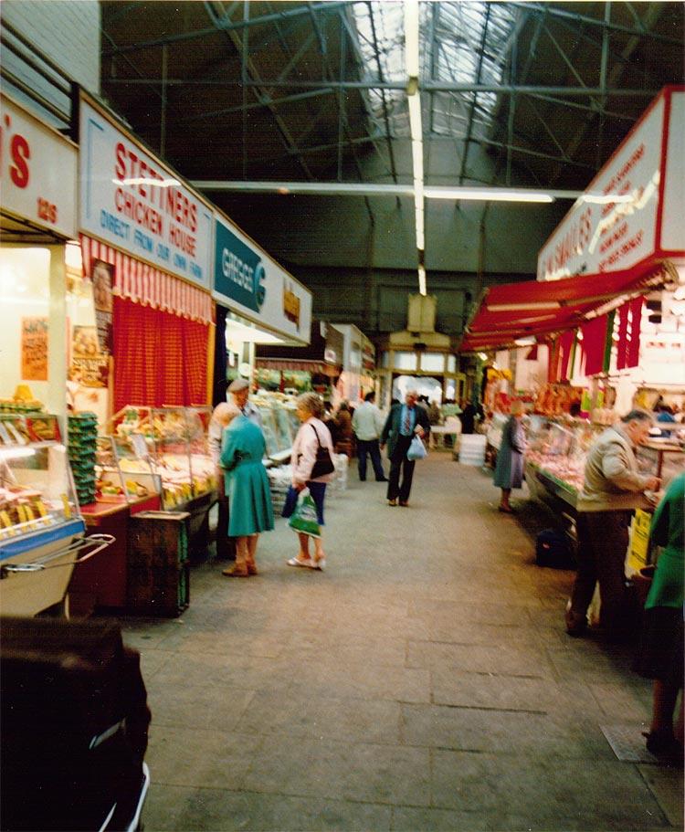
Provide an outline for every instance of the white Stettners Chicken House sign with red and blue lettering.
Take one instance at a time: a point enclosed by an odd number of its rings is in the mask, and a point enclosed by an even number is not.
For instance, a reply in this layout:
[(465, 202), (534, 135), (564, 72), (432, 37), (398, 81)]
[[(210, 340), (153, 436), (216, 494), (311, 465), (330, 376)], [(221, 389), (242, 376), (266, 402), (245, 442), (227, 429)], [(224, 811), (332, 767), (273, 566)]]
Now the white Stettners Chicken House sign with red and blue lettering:
[(209, 289), (211, 209), (85, 99), (80, 104), (80, 136), (81, 229)]

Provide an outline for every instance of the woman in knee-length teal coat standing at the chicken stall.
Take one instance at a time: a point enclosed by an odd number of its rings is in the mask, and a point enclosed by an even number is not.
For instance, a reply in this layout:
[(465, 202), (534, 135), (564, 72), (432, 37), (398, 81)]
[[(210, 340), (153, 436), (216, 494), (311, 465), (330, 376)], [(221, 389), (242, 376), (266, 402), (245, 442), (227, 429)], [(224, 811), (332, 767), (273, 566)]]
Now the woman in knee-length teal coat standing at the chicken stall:
[(226, 471), (228, 534), (236, 538), (236, 563), (223, 574), (247, 578), (258, 574), (255, 556), (260, 532), (273, 529), (269, 478), (262, 465), (264, 435), (236, 405), (227, 405), (219, 463)]

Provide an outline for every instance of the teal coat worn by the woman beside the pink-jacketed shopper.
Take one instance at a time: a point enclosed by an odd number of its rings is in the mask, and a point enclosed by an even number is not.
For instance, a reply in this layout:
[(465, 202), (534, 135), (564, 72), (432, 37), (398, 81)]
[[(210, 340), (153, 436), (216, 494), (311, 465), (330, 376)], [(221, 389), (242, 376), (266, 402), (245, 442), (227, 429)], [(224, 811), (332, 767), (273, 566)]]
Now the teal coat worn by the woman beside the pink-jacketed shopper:
[(262, 465), (264, 435), (246, 416), (236, 416), (224, 431), (219, 463), (226, 469), (228, 536), (269, 532), (273, 507), (269, 478)]

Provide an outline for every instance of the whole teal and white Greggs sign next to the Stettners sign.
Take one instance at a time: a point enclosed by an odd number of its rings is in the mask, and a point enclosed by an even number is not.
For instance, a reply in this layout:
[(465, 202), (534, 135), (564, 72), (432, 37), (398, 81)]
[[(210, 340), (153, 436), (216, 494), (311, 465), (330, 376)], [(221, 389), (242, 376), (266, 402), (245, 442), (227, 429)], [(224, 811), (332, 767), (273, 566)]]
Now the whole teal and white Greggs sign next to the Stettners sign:
[(214, 297), (291, 341), (310, 342), (311, 292), (237, 226), (215, 214)]

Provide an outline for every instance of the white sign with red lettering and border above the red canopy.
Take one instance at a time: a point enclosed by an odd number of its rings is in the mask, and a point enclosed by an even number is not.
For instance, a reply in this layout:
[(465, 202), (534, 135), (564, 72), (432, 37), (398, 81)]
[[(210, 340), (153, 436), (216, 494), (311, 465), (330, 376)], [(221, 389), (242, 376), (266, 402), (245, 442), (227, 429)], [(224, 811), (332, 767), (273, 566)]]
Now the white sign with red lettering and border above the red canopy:
[(652, 102), (543, 246), (537, 279), (685, 257), (683, 99), (685, 90), (667, 88)]

